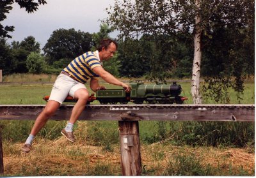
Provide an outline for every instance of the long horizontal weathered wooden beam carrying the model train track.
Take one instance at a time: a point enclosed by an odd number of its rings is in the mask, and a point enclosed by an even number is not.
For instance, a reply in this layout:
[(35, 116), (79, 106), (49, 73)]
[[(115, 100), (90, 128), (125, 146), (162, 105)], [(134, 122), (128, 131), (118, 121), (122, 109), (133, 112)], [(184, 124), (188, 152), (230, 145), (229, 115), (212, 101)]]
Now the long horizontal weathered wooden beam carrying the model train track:
[[(35, 120), (45, 105), (0, 105), (0, 120)], [(68, 120), (74, 105), (51, 119)], [(255, 105), (87, 105), (84, 121), (255, 121)]]

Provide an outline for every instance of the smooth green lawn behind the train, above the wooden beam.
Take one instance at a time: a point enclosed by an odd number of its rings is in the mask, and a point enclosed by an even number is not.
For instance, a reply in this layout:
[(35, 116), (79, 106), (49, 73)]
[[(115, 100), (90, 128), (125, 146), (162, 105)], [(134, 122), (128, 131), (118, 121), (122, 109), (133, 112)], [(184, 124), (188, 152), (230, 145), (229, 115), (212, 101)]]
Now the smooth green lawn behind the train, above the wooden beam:
[[(191, 96), (191, 84), (190, 82), (181, 82), (182, 93), (180, 95), (188, 97), (186, 104), (193, 103)], [(111, 84), (102, 84), (108, 89), (120, 88)], [(89, 93), (93, 93), (90, 89), (90, 85), (86, 84)], [(46, 95), (50, 95), (52, 85), (0, 85), (0, 103), (3, 105), (8, 104), (44, 104), (45, 101), (42, 98)], [(238, 103), (236, 93), (232, 90), (230, 92), (230, 103)], [(241, 96), (243, 100), (241, 104), (253, 104), (255, 100), (255, 85), (253, 82), (246, 82), (244, 87), (244, 94)], [(207, 103), (216, 103), (209, 100)], [(97, 101), (93, 101), (93, 104), (99, 104)]]

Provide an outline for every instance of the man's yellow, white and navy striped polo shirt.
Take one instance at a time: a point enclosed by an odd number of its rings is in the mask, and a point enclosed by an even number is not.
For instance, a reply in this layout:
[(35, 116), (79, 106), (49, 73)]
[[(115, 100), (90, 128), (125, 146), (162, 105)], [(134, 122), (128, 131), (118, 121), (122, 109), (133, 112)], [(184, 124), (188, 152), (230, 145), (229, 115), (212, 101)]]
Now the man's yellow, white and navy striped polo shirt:
[(89, 51), (76, 57), (62, 71), (66, 71), (69, 75), (76, 78), (77, 81), (85, 84), (90, 78), (99, 80), (99, 75), (92, 70), (97, 66), (101, 66), (99, 52)]

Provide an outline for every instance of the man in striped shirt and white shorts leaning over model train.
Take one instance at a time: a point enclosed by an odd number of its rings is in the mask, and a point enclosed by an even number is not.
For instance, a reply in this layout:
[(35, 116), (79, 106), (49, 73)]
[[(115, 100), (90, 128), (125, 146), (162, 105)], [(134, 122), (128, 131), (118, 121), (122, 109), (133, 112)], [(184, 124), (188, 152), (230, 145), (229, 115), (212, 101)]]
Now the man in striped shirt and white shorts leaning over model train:
[(91, 79), (90, 88), (92, 91), (106, 89), (104, 86), (99, 85), (99, 77), (109, 84), (124, 87), (125, 92), (131, 90), (129, 85), (124, 84), (113, 77), (113, 75), (104, 70), (100, 64), (101, 61), (108, 61), (113, 57), (116, 49), (117, 44), (115, 41), (110, 39), (102, 40), (95, 52), (86, 52), (83, 55), (76, 57), (76, 59), (61, 71), (52, 87), (49, 101), (42, 113), (36, 118), (31, 133), (24, 146), (21, 148), (22, 152), (28, 153), (31, 150), (35, 135), (44, 127), (49, 117), (56, 112), (68, 95), (76, 98), (77, 103), (72, 109), (67, 126), (61, 130), (61, 134), (71, 142), (75, 142), (72, 128), (81, 112), (83, 112), (89, 98), (88, 90), (84, 85), (89, 79)]

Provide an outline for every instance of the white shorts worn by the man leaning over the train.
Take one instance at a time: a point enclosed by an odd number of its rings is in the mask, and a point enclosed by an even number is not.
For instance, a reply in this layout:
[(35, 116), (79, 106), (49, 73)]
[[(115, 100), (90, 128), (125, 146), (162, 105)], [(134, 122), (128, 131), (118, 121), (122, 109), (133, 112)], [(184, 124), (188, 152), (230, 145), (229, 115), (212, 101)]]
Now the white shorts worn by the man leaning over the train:
[(67, 96), (74, 98), (77, 89), (86, 89), (86, 87), (84, 84), (61, 73), (52, 86), (49, 100), (54, 100), (62, 104)]

